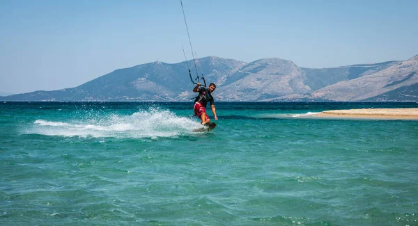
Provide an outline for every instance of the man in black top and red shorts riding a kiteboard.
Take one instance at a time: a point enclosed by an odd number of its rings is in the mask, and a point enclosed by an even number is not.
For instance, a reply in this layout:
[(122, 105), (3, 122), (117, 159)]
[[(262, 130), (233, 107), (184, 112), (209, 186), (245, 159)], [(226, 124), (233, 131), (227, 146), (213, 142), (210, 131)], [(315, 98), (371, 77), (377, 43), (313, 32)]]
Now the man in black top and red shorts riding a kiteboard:
[(217, 120), (215, 104), (213, 104), (212, 92), (216, 89), (214, 83), (210, 83), (208, 89), (201, 86), (201, 83), (197, 83), (197, 86), (193, 88), (193, 92), (199, 92), (199, 95), (194, 100), (194, 114), (202, 120), (202, 124), (210, 122), (209, 116), (206, 113), (206, 105), (210, 102), (213, 116)]

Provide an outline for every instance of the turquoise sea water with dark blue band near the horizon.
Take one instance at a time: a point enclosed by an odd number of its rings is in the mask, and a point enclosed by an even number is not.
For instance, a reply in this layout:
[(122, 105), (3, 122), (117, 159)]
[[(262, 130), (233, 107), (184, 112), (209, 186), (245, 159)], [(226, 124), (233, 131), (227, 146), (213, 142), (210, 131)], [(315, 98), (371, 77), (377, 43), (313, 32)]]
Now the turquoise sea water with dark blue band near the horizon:
[(216, 106), (0, 103), (0, 225), (418, 225), (418, 120), (312, 117), (417, 102)]

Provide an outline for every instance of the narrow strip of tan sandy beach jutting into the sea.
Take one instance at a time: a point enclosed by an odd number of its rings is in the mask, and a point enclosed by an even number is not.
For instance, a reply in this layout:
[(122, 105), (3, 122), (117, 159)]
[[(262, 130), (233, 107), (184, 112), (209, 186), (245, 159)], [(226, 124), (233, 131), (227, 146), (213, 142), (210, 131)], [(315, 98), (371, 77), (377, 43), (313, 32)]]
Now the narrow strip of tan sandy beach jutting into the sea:
[(382, 118), (418, 120), (418, 108), (362, 108), (350, 110), (330, 110), (315, 116), (326, 118)]

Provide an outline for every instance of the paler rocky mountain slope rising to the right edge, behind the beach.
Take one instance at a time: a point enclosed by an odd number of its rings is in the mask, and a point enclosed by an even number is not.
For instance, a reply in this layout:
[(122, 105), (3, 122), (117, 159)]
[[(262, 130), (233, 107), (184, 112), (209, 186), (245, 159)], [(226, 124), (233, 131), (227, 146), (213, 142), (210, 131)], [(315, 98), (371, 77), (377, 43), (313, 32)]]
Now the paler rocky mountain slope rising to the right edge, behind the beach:
[[(359, 66), (370, 67), (370, 65)], [(343, 79), (300, 97), (332, 101), (418, 100), (418, 55), (409, 60), (391, 61), (376, 66), (354, 76), (353, 79)], [(281, 98), (286, 99), (286, 97)], [(294, 98), (295, 96), (291, 97)]]

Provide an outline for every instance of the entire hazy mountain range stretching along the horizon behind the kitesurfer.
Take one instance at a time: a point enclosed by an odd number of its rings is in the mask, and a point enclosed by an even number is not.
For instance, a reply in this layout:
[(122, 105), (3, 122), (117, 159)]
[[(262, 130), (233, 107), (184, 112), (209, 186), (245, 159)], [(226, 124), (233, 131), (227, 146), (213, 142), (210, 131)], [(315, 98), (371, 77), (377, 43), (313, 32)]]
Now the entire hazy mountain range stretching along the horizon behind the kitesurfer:
[[(216, 101), (417, 101), (418, 55), (404, 61), (305, 68), (281, 58), (251, 63), (209, 56), (199, 74), (215, 83)], [(0, 97), (2, 101), (188, 101), (192, 60), (118, 69), (75, 88)], [(201, 75), (200, 75), (201, 76)]]

